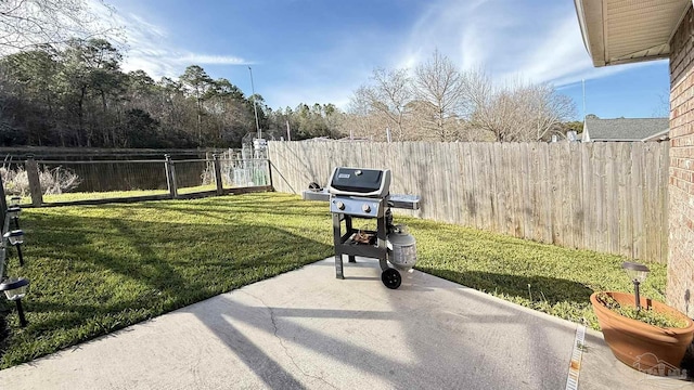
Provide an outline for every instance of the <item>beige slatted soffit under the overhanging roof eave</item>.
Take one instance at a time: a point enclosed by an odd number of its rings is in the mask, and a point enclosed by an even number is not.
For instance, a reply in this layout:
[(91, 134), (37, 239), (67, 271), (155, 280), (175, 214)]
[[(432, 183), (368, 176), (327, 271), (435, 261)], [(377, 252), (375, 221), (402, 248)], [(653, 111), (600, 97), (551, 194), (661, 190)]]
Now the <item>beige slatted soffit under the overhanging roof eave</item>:
[(668, 57), (692, 0), (574, 0), (594, 66)]

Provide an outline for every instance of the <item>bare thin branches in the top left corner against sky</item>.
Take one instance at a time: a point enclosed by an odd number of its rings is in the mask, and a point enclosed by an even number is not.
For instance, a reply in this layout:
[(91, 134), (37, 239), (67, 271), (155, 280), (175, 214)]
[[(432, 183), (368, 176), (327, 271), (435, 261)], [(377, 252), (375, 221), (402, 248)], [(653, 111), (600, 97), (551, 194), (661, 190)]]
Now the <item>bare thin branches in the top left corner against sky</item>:
[(91, 9), (87, 0), (0, 1), (0, 53), (117, 32), (106, 20), (114, 9), (102, 0), (99, 3), (104, 14)]

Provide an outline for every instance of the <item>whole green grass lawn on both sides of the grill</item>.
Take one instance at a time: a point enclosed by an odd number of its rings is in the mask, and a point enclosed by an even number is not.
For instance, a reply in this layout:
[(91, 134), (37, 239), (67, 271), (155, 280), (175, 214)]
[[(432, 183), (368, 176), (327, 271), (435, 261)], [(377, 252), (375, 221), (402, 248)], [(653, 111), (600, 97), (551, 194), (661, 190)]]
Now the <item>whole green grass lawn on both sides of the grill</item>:
[[(333, 253), (327, 204), (275, 193), (195, 200), (26, 209), (29, 325), (0, 367), (89, 340)], [(597, 328), (593, 290), (630, 290), (626, 259), (396, 216), (417, 238), (417, 269)], [(650, 263), (644, 295), (661, 300), (665, 264)], [(385, 287), (383, 287), (385, 288)], [(394, 291), (393, 294), (397, 294)]]

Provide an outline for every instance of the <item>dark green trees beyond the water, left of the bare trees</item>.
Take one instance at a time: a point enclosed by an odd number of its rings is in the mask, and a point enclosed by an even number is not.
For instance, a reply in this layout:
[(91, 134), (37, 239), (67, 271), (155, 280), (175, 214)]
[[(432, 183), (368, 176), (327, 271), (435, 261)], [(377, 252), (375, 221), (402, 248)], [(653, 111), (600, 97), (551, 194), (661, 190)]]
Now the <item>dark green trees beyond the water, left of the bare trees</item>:
[(334, 136), (342, 113), (332, 104), (272, 110), (198, 65), (155, 81), (125, 73), (123, 54), (104, 39), (72, 39), (0, 58), (0, 144), (87, 147), (241, 145), (255, 132), (254, 103), (266, 133)]

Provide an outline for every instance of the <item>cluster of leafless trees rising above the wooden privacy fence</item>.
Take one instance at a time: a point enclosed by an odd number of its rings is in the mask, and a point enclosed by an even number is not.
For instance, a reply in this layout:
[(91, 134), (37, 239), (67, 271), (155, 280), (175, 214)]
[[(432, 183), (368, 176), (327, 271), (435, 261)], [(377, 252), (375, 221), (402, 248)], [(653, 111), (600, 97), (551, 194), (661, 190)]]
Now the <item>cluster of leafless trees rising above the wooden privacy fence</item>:
[(498, 83), (484, 69), (458, 69), (437, 50), (413, 70), (374, 69), (349, 114), (359, 136), (396, 141), (547, 141), (577, 127), (568, 122), (575, 103), (553, 86)]

